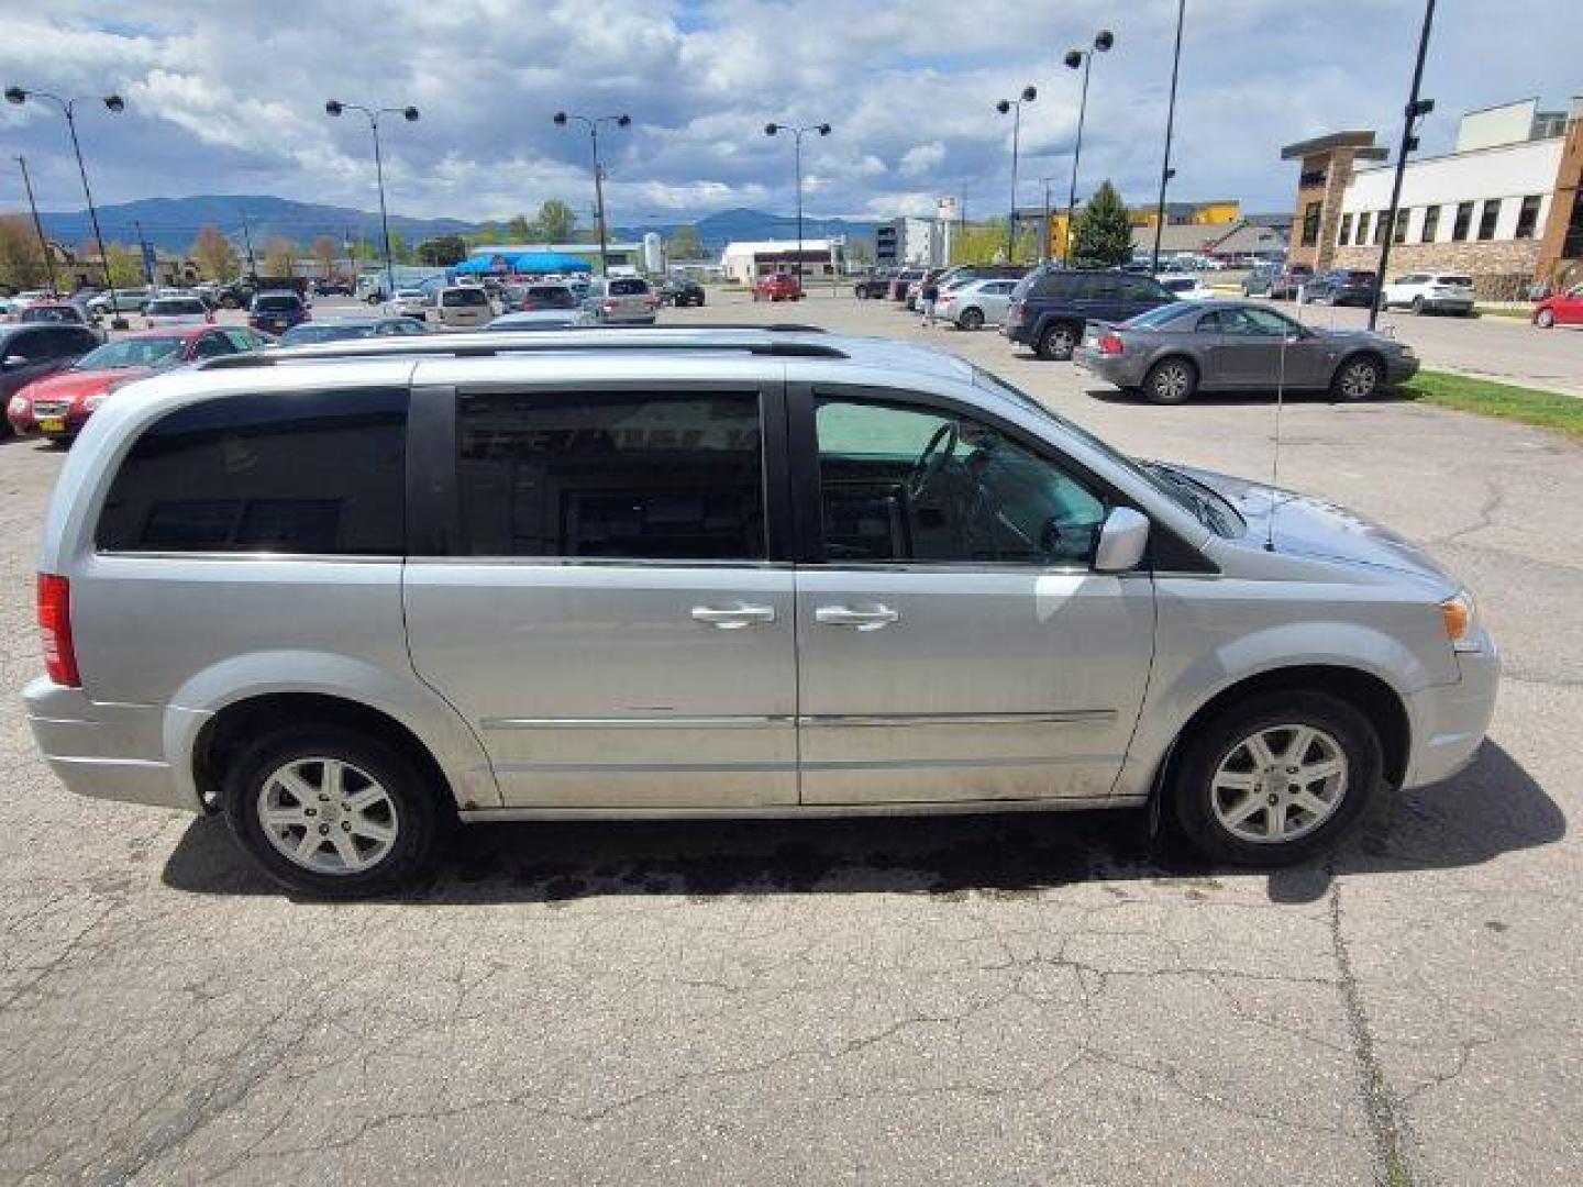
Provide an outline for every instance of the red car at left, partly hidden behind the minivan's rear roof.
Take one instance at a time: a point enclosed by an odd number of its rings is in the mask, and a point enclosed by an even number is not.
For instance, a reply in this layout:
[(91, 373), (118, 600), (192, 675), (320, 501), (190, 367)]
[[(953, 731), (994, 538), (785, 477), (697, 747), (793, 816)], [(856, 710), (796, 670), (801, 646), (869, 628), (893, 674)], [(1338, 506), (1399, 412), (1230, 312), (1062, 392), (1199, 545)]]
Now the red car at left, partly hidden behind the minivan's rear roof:
[(269, 342), (255, 329), (218, 326), (127, 334), (90, 350), (65, 370), (28, 383), (6, 404), (5, 416), (17, 434), (68, 440), (82, 432), (116, 388), (193, 359), (263, 350)]

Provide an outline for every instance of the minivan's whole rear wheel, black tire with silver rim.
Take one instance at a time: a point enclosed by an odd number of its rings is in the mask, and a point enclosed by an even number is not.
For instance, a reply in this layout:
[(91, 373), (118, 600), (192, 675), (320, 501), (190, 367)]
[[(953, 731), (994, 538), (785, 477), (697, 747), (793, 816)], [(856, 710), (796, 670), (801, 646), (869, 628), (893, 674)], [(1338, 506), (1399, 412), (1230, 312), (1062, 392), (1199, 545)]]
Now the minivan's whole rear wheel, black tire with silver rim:
[(437, 788), (378, 734), (283, 726), (230, 764), (220, 802), (233, 836), (269, 877), (325, 899), (413, 878), (434, 856)]

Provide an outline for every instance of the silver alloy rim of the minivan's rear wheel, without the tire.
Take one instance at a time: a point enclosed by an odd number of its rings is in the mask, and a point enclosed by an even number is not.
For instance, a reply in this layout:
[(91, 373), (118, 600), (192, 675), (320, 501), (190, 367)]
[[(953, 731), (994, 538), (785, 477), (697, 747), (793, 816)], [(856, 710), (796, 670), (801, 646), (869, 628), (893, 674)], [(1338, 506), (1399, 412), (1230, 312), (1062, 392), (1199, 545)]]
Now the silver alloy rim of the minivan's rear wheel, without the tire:
[(258, 791), (258, 823), (288, 861), (315, 874), (361, 874), (389, 856), (396, 801), (370, 774), (339, 758), (293, 758)]

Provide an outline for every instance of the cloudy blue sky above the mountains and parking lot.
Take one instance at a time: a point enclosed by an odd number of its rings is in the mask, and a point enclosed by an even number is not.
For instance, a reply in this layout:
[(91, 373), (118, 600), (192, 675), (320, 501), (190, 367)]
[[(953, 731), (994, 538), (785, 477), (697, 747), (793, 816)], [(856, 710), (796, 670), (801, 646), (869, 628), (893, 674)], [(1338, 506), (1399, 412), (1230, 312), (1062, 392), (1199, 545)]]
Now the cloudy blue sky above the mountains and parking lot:
[[(792, 144), (766, 120), (834, 125), (809, 144), (810, 214), (923, 212), (962, 195), (1008, 201), (1010, 117), (1023, 85), (1021, 201), (1065, 193), (1078, 76), (1064, 51), (1100, 27), (1083, 188), (1113, 177), (1149, 201), (1159, 176), (1175, 0), (11, 0), (0, 84), (119, 90), (79, 130), (104, 203), (274, 193), (374, 209), (366, 125), (336, 97), (415, 103), (385, 136), (394, 210), (500, 217), (562, 196), (590, 203), (587, 139), (557, 108), (628, 111), (609, 138), (613, 222), (731, 206), (790, 210)], [(112, 13), (112, 16), (106, 16)], [(1344, 127), (1391, 130), (1406, 100), (1422, 0), (1187, 0), (1175, 165), (1178, 198), (1287, 209), (1279, 146)], [(1425, 93), (1425, 149), (1460, 112), (1583, 92), (1583, 3), (1442, 0)], [(0, 106), (0, 209), (22, 203), (25, 154), (44, 209), (81, 207), (59, 116)]]

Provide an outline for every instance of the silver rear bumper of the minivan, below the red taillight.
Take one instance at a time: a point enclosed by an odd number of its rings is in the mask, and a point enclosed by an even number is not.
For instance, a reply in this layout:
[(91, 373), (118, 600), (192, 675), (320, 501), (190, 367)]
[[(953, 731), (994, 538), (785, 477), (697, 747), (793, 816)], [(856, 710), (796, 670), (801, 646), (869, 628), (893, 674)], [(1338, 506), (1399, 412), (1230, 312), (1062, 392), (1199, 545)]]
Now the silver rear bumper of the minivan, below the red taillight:
[(203, 812), (190, 780), (165, 761), (160, 707), (97, 704), (81, 688), (44, 676), (22, 690), (22, 700), (33, 741), (68, 791)]

